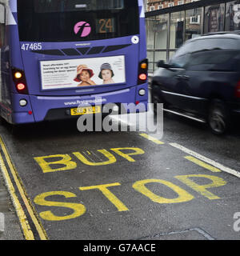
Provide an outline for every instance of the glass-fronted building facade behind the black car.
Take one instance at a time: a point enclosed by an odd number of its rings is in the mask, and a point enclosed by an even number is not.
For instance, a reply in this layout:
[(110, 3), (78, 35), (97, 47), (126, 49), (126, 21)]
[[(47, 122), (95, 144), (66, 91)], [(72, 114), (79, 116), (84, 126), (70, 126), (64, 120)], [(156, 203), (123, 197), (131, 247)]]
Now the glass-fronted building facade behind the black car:
[[(146, 8), (159, 2), (170, 1), (148, 0)], [(146, 12), (149, 73), (159, 60), (169, 60), (186, 40), (233, 30), (240, 30), (240, 0), (200, 0)]]

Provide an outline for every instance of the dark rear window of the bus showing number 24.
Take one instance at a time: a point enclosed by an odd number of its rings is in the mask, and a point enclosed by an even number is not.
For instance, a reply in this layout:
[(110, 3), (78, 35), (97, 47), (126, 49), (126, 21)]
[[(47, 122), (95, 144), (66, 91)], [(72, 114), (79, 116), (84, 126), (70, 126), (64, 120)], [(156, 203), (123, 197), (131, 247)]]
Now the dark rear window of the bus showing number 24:
[(79, 42), (139, 34), (138, 0), (18, 0), (22, 42)]

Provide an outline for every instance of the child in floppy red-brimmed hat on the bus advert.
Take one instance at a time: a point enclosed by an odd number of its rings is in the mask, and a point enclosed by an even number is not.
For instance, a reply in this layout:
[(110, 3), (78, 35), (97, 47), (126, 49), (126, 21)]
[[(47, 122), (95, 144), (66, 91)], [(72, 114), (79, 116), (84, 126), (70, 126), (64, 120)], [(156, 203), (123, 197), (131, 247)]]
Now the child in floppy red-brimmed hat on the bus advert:
[(74, 81), (80, 82), (78, 86), (96, 86), (95, 82), (90, 79), (93, 75), (94, 71), (82, 64), (77, 67), (77, 76)]

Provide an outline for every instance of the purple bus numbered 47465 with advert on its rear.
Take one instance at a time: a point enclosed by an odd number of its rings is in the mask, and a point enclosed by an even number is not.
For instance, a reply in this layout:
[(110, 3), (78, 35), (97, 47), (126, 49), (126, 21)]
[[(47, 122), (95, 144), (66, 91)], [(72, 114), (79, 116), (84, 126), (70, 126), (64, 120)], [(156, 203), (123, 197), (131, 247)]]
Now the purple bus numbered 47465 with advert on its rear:
[(0, 0), (0, 54), (11, 124), (147, 106), (142, 0)]

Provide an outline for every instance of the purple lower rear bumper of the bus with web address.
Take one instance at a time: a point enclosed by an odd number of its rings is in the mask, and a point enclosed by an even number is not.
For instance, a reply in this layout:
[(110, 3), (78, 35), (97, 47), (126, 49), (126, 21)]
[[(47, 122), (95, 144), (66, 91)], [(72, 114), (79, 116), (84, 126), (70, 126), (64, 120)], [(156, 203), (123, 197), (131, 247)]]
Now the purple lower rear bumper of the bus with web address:
[[(87, 96), (35, 96), (28, 95), (30, 109), (25, 112), (14, 113), (14, 123), (42, 122), (45, 120), (59, 120), (78, 118), (72, 116), (71, 109), (78, 106), (106, 105), (108, 103), (124, 102), (126, 112), (132, 113), (136, 109), (147, 110), (148, 90), (147, 83), (124, 90), (118, 90), (98, 95)], [(144, 89), (146, 94), (141, 96), (138, 91)], [(130, 104), (132, 103), (132, 104)], [(141, 104), (140, 104), (141, 103)], [(119, 104), (118, 104), (119, 106)], [(134, 107), (136, 106), (136, 107)], [(138, 108), (138, 106), (140, 106)]]

